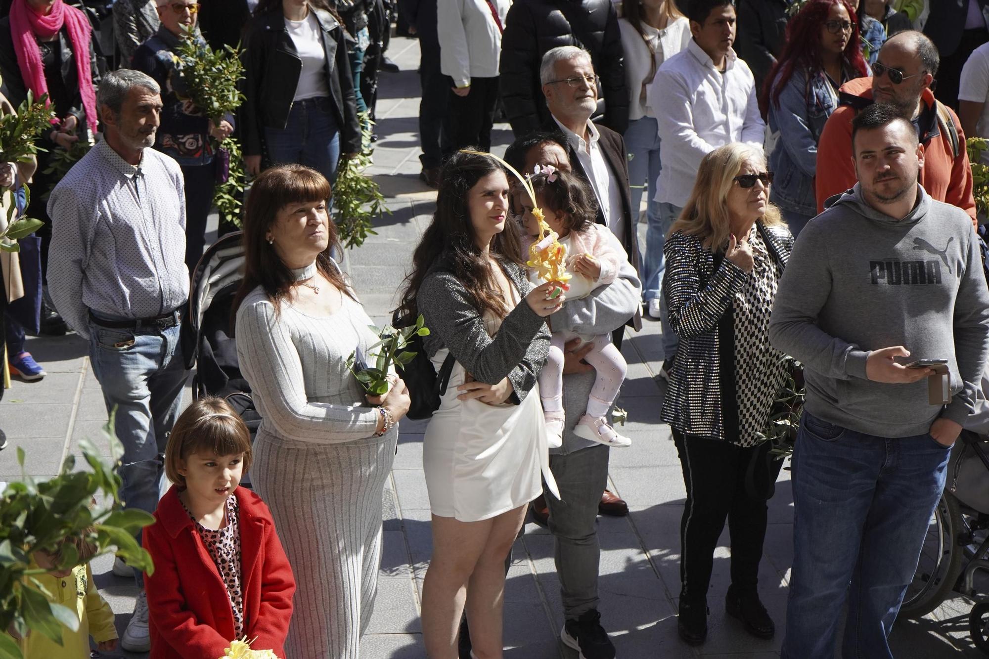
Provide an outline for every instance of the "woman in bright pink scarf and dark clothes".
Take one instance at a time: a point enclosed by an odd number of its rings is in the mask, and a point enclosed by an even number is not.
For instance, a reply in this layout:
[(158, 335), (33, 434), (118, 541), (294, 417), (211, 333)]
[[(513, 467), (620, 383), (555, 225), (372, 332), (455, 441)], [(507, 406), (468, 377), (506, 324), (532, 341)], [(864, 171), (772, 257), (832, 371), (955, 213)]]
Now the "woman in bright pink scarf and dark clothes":
[[(93, 28), (86, 15), (62, 0), (13, 0), (10, 16), (0, 20), (0, 75), (3, 91), (17, 107), (28, 97), (48, 95), (57, 122), (46, 132), (39, 153), (38, 172), (31, 184), (28, 214), (45, 221), (42, 238), (43, 275), (51, 235), (42, 195), (54, 182), (45, 168), (54, 148), (69, 148), (96, 132), (96, 85), (99, 71), (93, 46)], [(54, 312), (43, 314), (42, 333), (65, 333), (65, 323)]]

